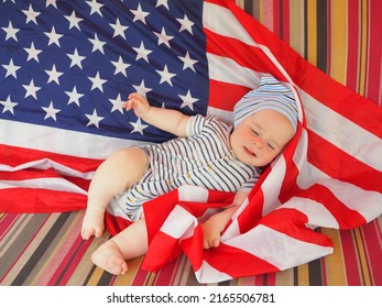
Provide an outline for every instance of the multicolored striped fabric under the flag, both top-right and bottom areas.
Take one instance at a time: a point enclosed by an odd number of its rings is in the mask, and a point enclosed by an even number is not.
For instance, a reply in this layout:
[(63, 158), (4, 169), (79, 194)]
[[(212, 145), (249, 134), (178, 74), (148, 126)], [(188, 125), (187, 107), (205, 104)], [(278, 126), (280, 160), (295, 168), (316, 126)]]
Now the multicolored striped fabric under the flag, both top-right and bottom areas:
[[(313, 65), (382, 106), (379, 0), (237, 0)], [(349, 33), (351, 35), (349, 35)], [(375, 61), (376, 58), (376, 61)], [(129, 261), (114, 277), (94, 266), (90, 254), (109, 237), (84, 242), (83, 211), (0, 215), (0, 285), (198, 285), (186, 257), (156, 274)], [(219, 285), (382, 285), (382, 218), (352, 231), (320, 229), (334, 254), (276, 274)]]

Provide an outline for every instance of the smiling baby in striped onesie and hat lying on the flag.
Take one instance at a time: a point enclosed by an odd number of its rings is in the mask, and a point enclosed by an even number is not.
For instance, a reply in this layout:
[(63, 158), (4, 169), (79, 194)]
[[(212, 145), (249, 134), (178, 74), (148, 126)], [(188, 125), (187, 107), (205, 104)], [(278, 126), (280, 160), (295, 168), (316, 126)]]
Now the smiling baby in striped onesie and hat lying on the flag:
[(261, 174), (292, 140), (297, 108), (292, 91), (272, 76), (247, 94), (233, 109), (233, 129), (212, 117), (188, 117), (151, 107), (139, 94), (123, 106), (137, 117), (179, 138), (155, 145), (117, 151), (97, 169), (89, 187), (81, 237), (99, 238), (109, 202), (133, 221), (97, 251), (91, 260), (111, 274), (124, 274), (125, 260), (148, 251), (142, 204), (182, 185), (237, 194), (234, 205), (201, 224), (204, 248), (217, 248), (220, 233)]

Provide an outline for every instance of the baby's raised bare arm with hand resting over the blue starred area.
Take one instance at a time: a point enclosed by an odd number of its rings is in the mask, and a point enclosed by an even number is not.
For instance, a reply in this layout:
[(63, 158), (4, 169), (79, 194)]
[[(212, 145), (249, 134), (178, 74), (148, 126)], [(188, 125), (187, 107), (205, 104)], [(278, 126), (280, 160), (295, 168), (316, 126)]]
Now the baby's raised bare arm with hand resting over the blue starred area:
[(137, 117), (151, 125), (177, 136), (187, 136), (186, 127), (189, 117), (177, 110), (152, 107), (144, 97), (137, 92), (129, 95), (123, 108), (127, 111), (133, 109)]

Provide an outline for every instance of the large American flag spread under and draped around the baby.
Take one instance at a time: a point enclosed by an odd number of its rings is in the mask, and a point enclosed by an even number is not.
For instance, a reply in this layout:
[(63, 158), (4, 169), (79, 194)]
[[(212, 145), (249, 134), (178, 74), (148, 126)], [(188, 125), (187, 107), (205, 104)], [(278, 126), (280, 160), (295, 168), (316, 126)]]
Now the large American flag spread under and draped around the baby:
[[(332, 252), (317, 227), (352, 229), (382, 213), (381, 109), (309, 65), (233, 1), (0, 6), (0, 210), (81, 209), (95, 169), (112, 151), (172, 138), (122, 110), (129, 92), (230, 121), (236, 101), (272, 74), (298, 97), (294, 140), (218, 249), (203, 250), (199, 221), (232, 195), (181, 187), (145, 204), (144, 268), (185, 253), (200, 283), (283, 271)], [(108, 211), (111, 233), (129, 223)]]

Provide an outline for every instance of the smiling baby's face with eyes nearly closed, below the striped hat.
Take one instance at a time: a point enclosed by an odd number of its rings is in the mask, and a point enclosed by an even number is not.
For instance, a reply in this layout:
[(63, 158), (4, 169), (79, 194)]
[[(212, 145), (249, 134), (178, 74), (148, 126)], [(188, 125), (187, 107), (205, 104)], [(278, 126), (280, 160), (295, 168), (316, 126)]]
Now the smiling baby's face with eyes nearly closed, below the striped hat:
[(230, 136), (230, 143), (242, 163), (263, 167), (283, 151), (293, 135), (293, 127), (283, 114), (262, 110), (239, 123)]

